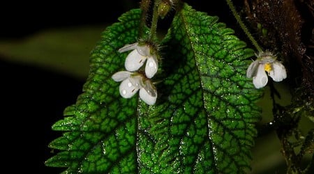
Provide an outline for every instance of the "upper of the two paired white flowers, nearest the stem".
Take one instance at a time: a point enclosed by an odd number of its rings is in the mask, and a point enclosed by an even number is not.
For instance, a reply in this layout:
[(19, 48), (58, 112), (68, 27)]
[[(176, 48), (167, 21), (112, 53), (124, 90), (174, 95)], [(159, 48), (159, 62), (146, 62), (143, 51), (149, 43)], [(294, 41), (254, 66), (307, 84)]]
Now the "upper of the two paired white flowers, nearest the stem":
[(144, 65), (147, 60), (145, 66), (145, 74), (147, 78), (154, 77), (158, 70), (158, 60), (156, 54), (151, 54), (151, 49), (149, 45), (138, 45), (138, 43), (133, 43), (131, 45), (125, 45), (119, 52), (127, 52), (129, 50), (133, 50), (126, 57), (126, 62), (124, 63), (126, 70), (130, 72), (137, 71)]

